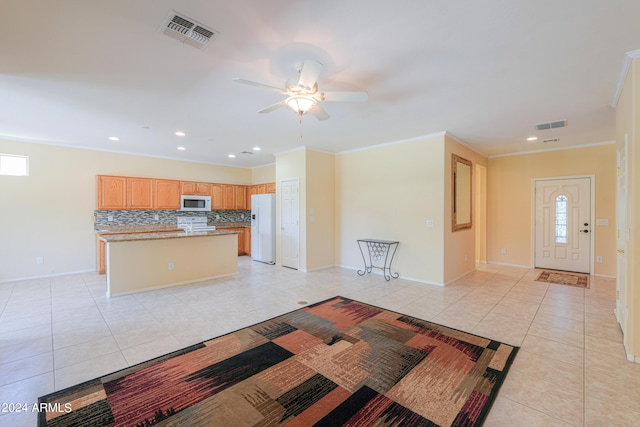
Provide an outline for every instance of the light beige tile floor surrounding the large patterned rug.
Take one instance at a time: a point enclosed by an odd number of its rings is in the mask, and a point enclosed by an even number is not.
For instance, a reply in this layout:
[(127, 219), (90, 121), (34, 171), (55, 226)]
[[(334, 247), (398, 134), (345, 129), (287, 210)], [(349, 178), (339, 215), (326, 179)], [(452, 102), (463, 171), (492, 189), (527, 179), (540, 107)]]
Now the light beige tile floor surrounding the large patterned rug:
[(624, 355), (615, 282), (583, 290), (537, 274), (486, 265), (438, 287), (241, 257), (232, 278), (111, 299), (97, 274), (3, 283), (0, 426), (36, 425), (38, 396), (336, 295), (521, 346), (487, 426), (638, 425), (640, 364)]

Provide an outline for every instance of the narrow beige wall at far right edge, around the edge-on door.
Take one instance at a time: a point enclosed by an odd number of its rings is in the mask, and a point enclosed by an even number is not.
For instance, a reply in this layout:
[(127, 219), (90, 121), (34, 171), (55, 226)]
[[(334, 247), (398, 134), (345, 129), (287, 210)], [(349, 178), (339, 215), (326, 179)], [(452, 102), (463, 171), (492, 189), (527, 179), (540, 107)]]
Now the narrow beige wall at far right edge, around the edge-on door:
[[(616, 106), (616, 143), (621, 148), (627, 137), (627, 224), (617, 224), (620, 235), (625, 239), (627, 229), (631, 238), (623, 241), (624, 254), (618, 255), (625, 261), (626, 268), (618, 278), (621, 290), (621, 308), (618, 316), (626, 311), (626, 331), (624, 346), (627, 357), (640, 362), (640, 60), (634, 59), (627, 74), (623, 91)], [(624, 257), (624, 258), (622, 258)]]

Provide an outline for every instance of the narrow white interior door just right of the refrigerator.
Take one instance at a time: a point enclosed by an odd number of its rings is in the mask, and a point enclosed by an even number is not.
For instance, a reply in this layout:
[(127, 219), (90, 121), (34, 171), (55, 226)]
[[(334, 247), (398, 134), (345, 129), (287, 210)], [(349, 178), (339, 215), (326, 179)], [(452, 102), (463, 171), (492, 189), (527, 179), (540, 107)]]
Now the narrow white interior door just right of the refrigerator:
[(284, 267), (300, 268), (300, 192), (298, 178), (280, 183), (280, 242)]

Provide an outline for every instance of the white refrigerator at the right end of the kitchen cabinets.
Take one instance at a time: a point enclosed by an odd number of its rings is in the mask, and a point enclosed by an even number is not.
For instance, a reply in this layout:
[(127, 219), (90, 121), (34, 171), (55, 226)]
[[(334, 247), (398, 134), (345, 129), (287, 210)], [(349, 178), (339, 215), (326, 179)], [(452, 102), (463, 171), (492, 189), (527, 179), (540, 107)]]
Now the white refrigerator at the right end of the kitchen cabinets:
[(276, 263), (276, 195), (251, 196), (251, 259)]

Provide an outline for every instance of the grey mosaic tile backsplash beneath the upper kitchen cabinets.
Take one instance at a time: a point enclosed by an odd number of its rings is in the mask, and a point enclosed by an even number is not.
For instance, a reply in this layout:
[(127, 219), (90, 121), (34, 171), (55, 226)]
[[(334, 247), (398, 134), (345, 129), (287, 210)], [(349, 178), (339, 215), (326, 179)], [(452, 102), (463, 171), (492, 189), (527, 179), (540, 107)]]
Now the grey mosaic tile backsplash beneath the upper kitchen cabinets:
[[(207, 222), (249, 222), (251, 211), (221, 210), (211, 212), (182, 211), (93, 211), (95, 226), (175, 224), (179, 216), (207, 216)], [(157, 216), (157, 219), (156, 219)], [(111, 217), (111, 218), (109, 218)], [(109, 221), (112, 219), (112, 221)]]

